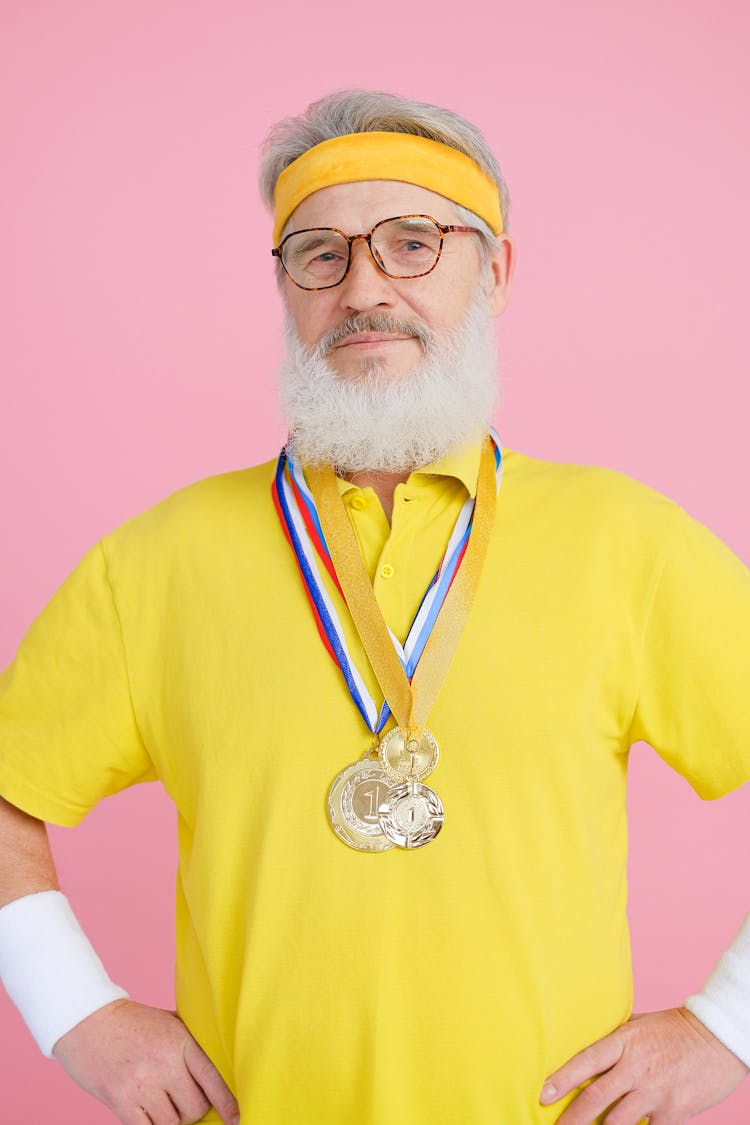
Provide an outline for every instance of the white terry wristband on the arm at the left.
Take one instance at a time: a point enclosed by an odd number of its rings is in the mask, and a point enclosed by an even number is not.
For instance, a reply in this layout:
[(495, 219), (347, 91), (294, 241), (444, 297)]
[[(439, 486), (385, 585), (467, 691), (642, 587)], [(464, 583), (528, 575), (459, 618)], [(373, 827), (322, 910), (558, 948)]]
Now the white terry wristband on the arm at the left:
[(60, 891), (26, 894), (0, 909), (0, 980), (47, 1058), (92, 1011), (127, 998)]

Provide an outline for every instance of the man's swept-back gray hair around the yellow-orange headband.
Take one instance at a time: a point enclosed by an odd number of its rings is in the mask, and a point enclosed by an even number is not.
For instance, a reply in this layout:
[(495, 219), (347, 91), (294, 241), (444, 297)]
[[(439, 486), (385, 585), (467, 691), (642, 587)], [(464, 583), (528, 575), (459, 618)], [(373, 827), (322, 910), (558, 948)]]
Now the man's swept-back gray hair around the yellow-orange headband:
[[(428, 137), (464, 153), (497, 183), (503, 227), (507, 231), (510, 200), (495, 154), (476, 125), (451, 109), (424, 101), (408, 101), (378, 90), (340, 90), (314, 101), (299, 117), (286, 117), (274, 125), (263, 145), (259, 182), (261, 197), (273, 209), (277, 180), (292, 161), (333, 137), (350, 133), (409, 133)], [(497, 246), (491, 230), (479, 215), (457, 205), (461, 223), (476, 226), (482, 259)]]

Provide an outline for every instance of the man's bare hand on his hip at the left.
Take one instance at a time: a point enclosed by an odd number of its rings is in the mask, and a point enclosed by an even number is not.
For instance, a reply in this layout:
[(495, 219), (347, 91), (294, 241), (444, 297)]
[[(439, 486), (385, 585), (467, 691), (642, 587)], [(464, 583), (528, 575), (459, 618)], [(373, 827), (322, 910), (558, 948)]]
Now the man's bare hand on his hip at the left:
[(53, 1054), (123, 1125), (188, 1125), (211, 1106), (240, 1125), (232, 1091), (174, 1012), (115, 1000), (57, 1040)]

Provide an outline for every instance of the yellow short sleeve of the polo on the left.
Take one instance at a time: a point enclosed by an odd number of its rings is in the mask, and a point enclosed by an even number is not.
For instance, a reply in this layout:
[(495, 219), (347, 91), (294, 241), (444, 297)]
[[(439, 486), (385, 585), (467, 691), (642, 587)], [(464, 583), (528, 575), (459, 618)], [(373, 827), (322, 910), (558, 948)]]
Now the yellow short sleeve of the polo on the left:
[(75, 825), (102, 796), (154, 777), (97, 543), (0, 675), (0, 794), (42, 820)]

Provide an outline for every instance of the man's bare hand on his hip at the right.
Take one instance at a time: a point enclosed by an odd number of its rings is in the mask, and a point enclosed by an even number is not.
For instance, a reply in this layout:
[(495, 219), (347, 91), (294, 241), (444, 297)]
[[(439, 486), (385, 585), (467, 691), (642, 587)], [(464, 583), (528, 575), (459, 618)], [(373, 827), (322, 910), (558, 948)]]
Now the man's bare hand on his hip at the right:
[[(546, 1080), (550, 1105), (594, 1079), (558, 1125), (590, 1125), (609, 1106), (604, 1125), (683, 1125), (729, 1097), (748, 1066), (686, 1008), (634, 1015), (612, 1035), (569, 1059)], [(548, 1092), (548, 1087), (554, 1089)]]

